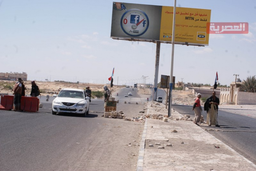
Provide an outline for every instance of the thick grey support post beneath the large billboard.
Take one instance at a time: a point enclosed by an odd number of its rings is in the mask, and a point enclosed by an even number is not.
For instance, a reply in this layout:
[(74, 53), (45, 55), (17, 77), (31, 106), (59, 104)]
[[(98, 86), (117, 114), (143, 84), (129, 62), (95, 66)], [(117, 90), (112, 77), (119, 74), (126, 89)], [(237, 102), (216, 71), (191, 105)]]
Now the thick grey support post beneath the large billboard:
[(155, 80), (154, 80), (154, 91), (153, 91), (153, 100), (154, 101), (156, 101), (156, 98), (157, 98), (157, 81), (158, 81), (158, 70), (159, 70), (159, 56), (160, 56), (160, 41), (157, 41), (156, 63), (155, 63)]

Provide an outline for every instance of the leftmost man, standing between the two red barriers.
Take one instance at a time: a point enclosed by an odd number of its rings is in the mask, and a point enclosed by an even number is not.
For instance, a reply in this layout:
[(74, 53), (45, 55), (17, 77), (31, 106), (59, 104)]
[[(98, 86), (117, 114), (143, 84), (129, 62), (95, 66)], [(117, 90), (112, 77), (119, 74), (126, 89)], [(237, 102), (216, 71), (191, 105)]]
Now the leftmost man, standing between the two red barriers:
[(13, 88), (13, 95), (14, 95), (14, 111), (20, 111), (21, 110), (21, 93), (22, 93), (22, 82), (23, 80), (21, 78), (18, 78), (17, 82), (14, 85)]

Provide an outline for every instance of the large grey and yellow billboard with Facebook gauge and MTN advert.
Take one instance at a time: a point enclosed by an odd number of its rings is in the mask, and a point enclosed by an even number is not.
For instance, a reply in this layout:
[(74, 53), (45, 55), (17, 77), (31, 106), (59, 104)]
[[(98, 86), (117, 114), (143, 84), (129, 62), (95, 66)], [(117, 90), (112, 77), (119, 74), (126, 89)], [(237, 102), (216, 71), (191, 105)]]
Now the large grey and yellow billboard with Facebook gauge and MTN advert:
[[(113, 2), (111, 38), (171, 43), (173, 7)], [(174, 43), (208, 45), (211, 10), (176, 7)]]

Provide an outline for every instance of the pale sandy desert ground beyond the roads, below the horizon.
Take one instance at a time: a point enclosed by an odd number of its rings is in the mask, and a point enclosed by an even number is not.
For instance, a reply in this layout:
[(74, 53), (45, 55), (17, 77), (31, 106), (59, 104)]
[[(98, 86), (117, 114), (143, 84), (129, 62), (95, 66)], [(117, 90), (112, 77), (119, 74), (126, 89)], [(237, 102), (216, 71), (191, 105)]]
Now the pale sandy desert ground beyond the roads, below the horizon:
[[(8, 93), (12, 94), (11, 88), (14, 86), (15, 81), (6, 81), (0, 80), (0, 94)], [(92, 91), (102, 91), (103, 87), (106, 84), (92, 84), (92, 83), (61, 83), (61, 82), (49, 82), (49, 81), (36, 81), (40, 91), (42, 92), (41, 95), (50, 95), (58, 94), (58, 92), (63, 88), (76, 88), (76, 89), (85, 89), (86, 87), (90, 87)], [(9, 87), (7, 86), (9, 85)], [(30, 95), (31, 92), (31, 81), (24, 81), (24, 85), (26, 87), (26, 96)], [(110, 88), (110, 85), (107, 85)], [(113, 93), (122, 87), (125, 86), (113, 86)], [(141, 94), (149, 94), (149, 89), (141, 89), (139, 91)], [(165, 99), (165, 97), (163, 97)], [(180, 90), (173, 90), (172, 91), (172, 104), (178, 105), (193, 105), (195, 101), (195, 95), (189, 91), (180, 91)], [(203, 102), (201, 105), (203, 106)], [(250, 117), (256, 118), (256, 105), (225, 105), (222, 104), (219, 106), (220, 109), (224, 111), (229, 111), (235, 114), (246, 115)]]

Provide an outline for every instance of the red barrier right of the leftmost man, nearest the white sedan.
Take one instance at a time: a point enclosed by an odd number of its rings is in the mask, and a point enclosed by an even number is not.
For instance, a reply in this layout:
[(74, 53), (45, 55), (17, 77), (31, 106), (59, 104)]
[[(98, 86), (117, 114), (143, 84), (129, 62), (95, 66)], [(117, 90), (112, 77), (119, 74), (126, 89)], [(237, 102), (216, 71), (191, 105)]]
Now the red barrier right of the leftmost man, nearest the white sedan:
[(39, 98), (22, 96), (21, 110), (28, 112), (37, 112), (39, 110)]

